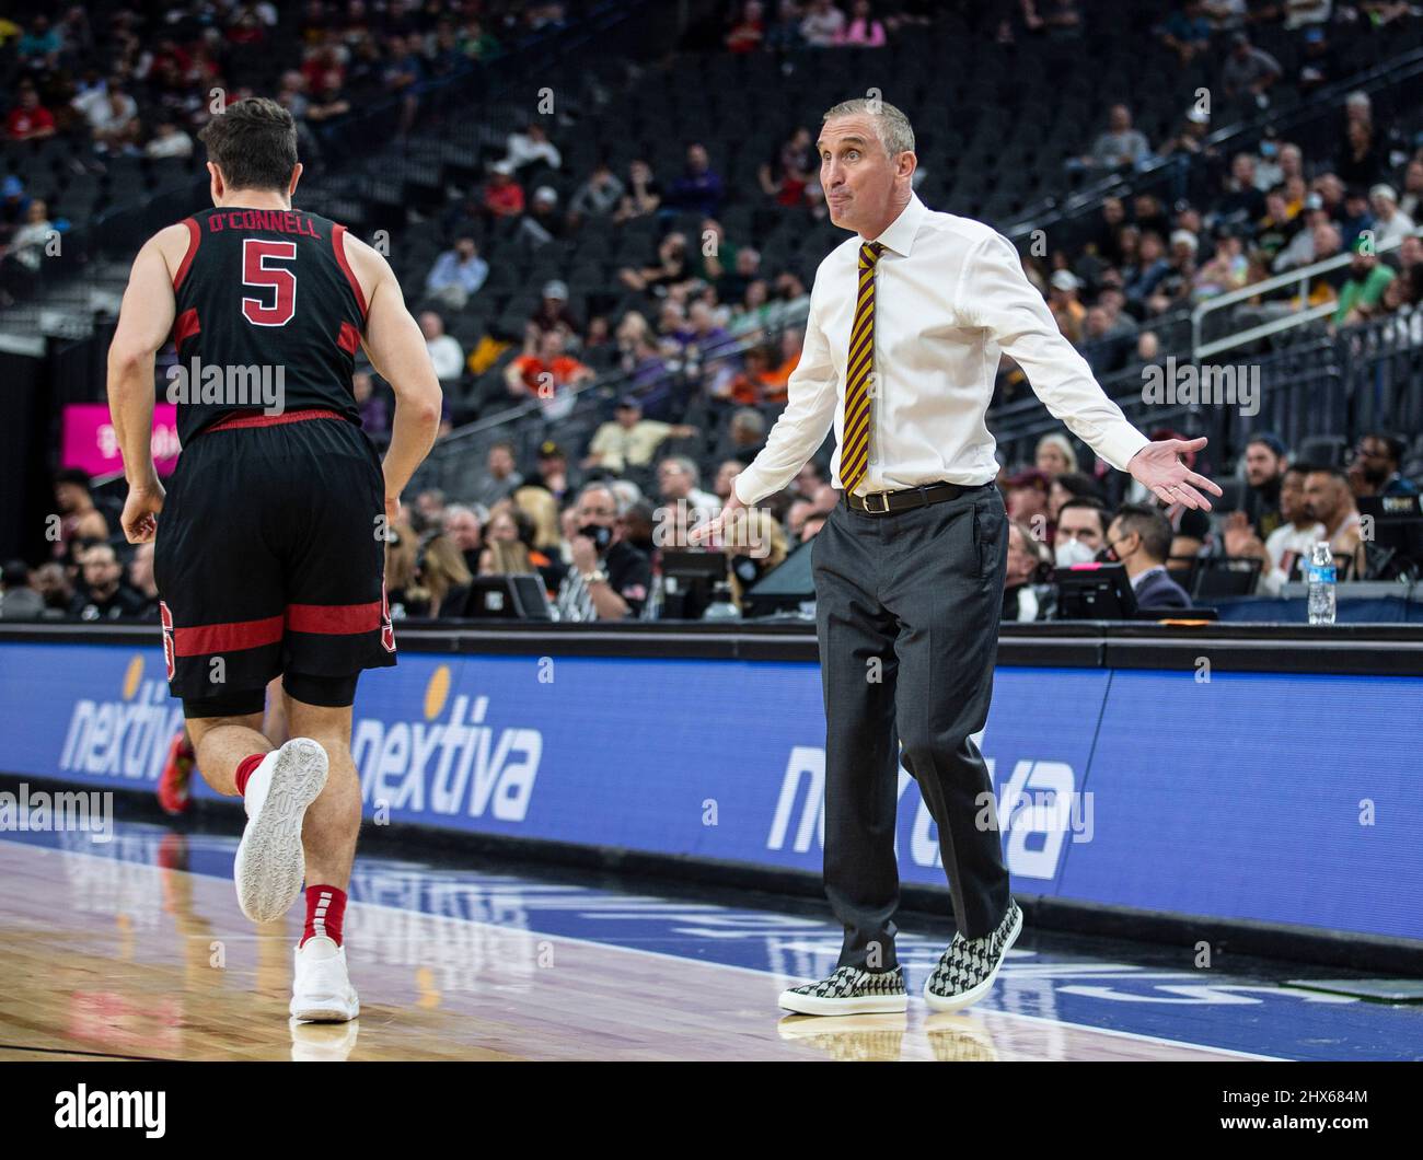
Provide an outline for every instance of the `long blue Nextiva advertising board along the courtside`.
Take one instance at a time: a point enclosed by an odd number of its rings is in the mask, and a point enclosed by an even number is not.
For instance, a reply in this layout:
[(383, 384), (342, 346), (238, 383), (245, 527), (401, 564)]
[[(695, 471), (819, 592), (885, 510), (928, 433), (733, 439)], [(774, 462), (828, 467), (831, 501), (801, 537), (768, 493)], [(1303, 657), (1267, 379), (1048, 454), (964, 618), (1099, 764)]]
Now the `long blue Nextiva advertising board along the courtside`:
[[(1423, 677), (999, 668), (980, 744), (1015, 890), (1423, 938), (1420, 699)], [(403, 652), (354, 719), (374, 821), (821, 867), (814, 663)], [(181, 722), (158, 649), (0, 643), (4, 773), (152, 786)], [(898, 854), (945, 881), (904, 771)]]

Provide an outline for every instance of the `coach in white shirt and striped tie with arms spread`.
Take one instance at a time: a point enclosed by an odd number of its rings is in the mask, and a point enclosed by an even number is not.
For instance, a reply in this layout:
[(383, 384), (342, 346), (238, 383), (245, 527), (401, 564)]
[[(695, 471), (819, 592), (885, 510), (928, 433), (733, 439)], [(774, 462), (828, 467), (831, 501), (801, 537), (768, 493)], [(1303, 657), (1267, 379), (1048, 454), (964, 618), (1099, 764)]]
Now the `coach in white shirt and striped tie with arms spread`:
[(999, 356), (1017, 362), (1054, 417), (1163, 502), (1210, 510), (1201, 491), (1221, 490), (1178, 458), (1204, 438), (1151, 443), (1127, 423), (1007, 239), (915, 196), (914, 130), (899, 110), (838, 104), (817, 145), (831, 221), (857, 236), (815, 272), (785, 411), (694, 538), (734, 537), (737, 512), (790, 483), (834, 423), (841, 498), (811, 558), (825, 892), (845, 939), (830, 978), (780, 1002), (805, 1015), (905, 1011), (892, 921), (902, 763), (938, 826), (958, 927), (924, 996), (953, 1011), (989, 991), (1023, 924), (973, 742), (992, 696), (1007, 552), (985, 426)]

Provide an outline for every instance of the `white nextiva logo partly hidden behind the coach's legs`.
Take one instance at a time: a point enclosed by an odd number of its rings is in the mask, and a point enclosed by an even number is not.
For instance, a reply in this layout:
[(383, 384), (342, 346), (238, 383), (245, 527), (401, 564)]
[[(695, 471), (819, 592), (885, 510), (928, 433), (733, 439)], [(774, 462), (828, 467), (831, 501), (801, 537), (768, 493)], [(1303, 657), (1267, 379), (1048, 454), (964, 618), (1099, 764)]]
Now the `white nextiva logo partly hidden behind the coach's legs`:
[[(979, 739), (976, 739), (979, 740)], [(989, 776), (998, 784), (996, 761), (985, 757)], [(914, 783), (902, 767), (896, 801)], [(942, 867), (939, 840), (924, 798), (908, 820), (908, 854), (915, 865)], [(1079, 794), (1076, 776), (1066, 761), (1020, 760), (999, 787), (998, 796), (983, 796), (975, 821), (990, 826), (998, 818), (1005, 833), (1003, 855), (1010, 874), (1023, 878), (1057, 877), (1067, 838), (1091, 841), (1091, 794)], [(901, 811), (899, 826), (905, 826)], [(795, 746), (785, 763), (781, 793), (776, 801), (767, 850), (794, 850), (804, 854), (811, 843), (825, 845), (825, 750)], [(895, 853), (899, 851), (899, 835)]]

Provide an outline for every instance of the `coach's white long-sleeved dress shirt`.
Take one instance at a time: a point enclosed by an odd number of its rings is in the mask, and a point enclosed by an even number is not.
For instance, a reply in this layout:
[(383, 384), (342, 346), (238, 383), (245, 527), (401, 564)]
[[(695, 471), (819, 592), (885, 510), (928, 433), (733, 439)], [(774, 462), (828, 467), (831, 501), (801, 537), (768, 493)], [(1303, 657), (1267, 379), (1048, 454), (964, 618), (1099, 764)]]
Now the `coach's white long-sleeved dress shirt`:
[[(785, 487), (835, 427), (844, 438), (845, 357), (855, 317), (858, 235), (815, 272), (805, 346), (766, 448), (736, 480), (756, 504)], [(875, 239), (884, 243), (875, 283), (875, 384), (869, 467), (857, 494), (998, 475), (983, 417), (999, 354), (1012, 356), (1037, 397), (1113, 467), (1147, 444), (1103, 393), (1086, 360), (1057, 330), (1017, 251), (982, 222), (938, 213), (918, 196)], [(840, 447), (831, 460), (840, 478)]]

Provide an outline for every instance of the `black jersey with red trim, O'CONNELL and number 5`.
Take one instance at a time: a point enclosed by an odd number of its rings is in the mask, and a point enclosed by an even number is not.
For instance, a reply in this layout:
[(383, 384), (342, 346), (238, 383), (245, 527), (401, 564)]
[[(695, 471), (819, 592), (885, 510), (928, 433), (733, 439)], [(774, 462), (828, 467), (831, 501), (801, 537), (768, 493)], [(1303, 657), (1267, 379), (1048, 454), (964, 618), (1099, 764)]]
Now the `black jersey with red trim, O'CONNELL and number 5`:
[(161, 387), (178, 404), (179, 441), (232, 414), (327, 408), (359, 424), (351, 370), (367, 303), (346, 228), (300, 209), (232, 206), (184, 225), (178, 363)]

